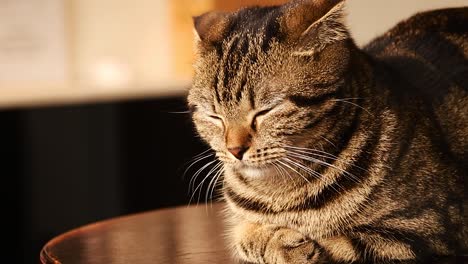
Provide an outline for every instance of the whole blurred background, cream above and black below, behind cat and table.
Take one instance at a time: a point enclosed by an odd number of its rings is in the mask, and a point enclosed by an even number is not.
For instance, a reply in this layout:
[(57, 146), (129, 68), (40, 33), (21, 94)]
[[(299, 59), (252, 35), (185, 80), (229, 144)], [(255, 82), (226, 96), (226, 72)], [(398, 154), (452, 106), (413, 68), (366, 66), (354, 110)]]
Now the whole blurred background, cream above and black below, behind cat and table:
[[(183, 172), (208, 148), (184, 113), (191, 17), (282, 2), (1, 0), (2, 260), (37, 263), (70, 229), (188, 204), (197, 167)], [(466, 4), (348, 0), (348, 24), (362, 46), (417, 11)]]

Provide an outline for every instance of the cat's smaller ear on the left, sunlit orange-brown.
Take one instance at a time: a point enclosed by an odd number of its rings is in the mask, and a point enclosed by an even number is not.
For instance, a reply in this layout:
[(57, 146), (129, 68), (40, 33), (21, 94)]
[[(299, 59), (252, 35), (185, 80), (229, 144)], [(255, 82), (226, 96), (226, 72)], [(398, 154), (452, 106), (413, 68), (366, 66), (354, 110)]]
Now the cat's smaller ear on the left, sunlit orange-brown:
[(229, 13), (208, 12), (193, 17), (195, 42), (203, 47), (210, 47), (222, 41), (229, 31), (231, 20)]

